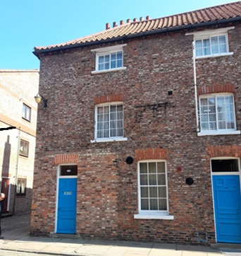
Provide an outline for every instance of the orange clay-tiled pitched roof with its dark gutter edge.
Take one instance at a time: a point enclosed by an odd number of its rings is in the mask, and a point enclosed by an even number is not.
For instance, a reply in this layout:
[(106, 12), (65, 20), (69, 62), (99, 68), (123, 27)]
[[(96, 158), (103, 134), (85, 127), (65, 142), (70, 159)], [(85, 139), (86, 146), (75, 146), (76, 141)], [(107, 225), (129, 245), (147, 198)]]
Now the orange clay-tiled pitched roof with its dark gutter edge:
[(197, 27), (204, 25), (211, 25), (212, 23), (225, 23), (229, 21), (241, 20), (241, 1), (236, 1), (230, 4), (222, 4), (209, 8), (203, 8), (187, 13), (179, 13), (163, 18), (154, 18), (144, 21), (130, 21), (128, 23), (117, 25), (113, 28), (108, 28), (106, 23), (106, 30), (86, 37), (80, 37), (76, 40), (63, 42), (58, 45), (49, 45), (45, 47), (35, 47), (35, 55), (42, 52), (51, 52), (55, 50), (63, 50), (71, 47), (79, 47), (84, 45), (92, 45), (101, 42), (113, 42), (123, 40), (125, 38), (138, 37), (142, 35), (151, 35), (161, 33), (166, 30), (182, 30), (189, 27)]

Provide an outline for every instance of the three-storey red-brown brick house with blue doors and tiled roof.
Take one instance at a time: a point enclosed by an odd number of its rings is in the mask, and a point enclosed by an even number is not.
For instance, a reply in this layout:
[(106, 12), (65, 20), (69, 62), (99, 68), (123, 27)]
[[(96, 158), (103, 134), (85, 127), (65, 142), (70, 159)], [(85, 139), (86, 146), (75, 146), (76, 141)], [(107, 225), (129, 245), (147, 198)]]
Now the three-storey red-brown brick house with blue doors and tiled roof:
[(241, 242), (240, 15), (237, 1), (35, 47), (32, 234)]

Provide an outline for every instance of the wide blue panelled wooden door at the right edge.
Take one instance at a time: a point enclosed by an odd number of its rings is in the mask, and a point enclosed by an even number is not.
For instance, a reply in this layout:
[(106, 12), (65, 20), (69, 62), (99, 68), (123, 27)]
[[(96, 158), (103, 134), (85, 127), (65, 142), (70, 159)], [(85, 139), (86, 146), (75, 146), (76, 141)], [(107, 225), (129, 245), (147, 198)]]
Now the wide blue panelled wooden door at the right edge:
[(213, 175), (217, 242), (241, 243), (240, 176)]

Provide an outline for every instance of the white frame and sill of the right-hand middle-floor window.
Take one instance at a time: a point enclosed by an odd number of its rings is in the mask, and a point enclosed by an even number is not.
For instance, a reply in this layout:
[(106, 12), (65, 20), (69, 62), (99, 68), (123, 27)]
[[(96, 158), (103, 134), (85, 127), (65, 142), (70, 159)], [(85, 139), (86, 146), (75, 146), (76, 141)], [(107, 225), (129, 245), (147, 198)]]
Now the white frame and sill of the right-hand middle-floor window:
[[(218, 112), (216, 104), (217, 98), (221, 96), (232, 96), (233, 98), (233, 122), (234, 122), (234, 128), (233, 129), (219, 129), (218, 128)], [(204, 98), (215, 98), (215, 117), (216, 117), (216, 129), (202, 129), (202, 114), (201, 114), (201, 100)], [(200, 132), (198, 133), (198, 136), (204, 136), (204, 135), (222, 135), (222, 134), (240, 134), (240, 131), (237, 130), (237, 123), (236, 123), (236, 115), (235, 115), (235, 98), (233, 93), (209, 93), (204, 95), (199, 95), (199, 125), (200, 125)], [(227, 122), (227, 120), (224, 120)]]

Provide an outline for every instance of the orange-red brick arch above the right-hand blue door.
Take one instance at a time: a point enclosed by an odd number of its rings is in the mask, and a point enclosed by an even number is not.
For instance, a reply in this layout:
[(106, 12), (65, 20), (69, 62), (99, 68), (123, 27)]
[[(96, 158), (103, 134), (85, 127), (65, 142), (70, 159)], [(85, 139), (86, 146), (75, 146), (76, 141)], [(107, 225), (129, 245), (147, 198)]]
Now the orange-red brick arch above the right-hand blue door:
[(208, 146), (210, 158), (230, 156), (241, 158), (241, 146)]

